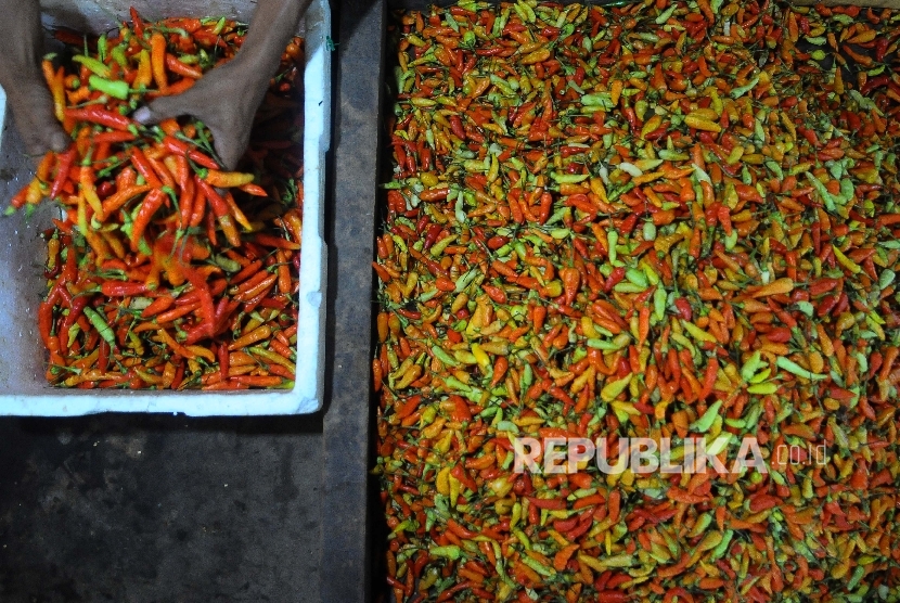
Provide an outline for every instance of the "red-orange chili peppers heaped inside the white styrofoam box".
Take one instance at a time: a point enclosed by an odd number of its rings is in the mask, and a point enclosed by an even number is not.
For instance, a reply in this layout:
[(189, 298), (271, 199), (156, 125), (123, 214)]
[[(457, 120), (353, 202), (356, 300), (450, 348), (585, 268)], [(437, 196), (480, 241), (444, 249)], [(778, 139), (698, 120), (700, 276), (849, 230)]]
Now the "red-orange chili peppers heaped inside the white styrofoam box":
[(222, 171), (207, 128), (130, 117), (230, 60), (245, 28), (168, 18), (114, 35), (59, 31), (43, 61), (73, 143), (48, 153), (10, 210), (55, 200), (38, 309), (47, 379), (66, 387), (291, 388), (303, 215), (301, 40), (257, 114), (241, 171)]

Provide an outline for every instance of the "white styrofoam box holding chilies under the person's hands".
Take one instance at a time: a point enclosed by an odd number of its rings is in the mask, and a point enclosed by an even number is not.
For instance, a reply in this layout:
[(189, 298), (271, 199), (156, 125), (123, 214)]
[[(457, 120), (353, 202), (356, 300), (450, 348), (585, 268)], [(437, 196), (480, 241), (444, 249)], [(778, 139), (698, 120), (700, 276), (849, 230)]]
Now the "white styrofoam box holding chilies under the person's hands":
[[(111, 30), (128, 20), (134, 5), (147, 20), (166, 16), (219, 16), (250, 21), (252, 0), (46, 0), (44, 24), (81, 31)], [(43, 345), (37, 332), (37, 308), (44, 293), (47, 252), (39, 238), (52, 226), (55, 208), (41, 204), (29, 218), (24, 211), (0, 217), (0, 415), (70, 416), (105, 411), (182, 412), (188, 415), (301, 414), (322, 407), (326, 249), (324, 228), (325, 152), (331, 124), (331, 10), (313, 0), (300, 24), (306, 40), (304, 132), (304, 231), (300, 255), (300, 319), (297, 376), (292, 390), (154, 392), (67, 389), (44, 379)], [(3, 118), (0, 88), (0, 208), (34, 175), (12, 119)]]

